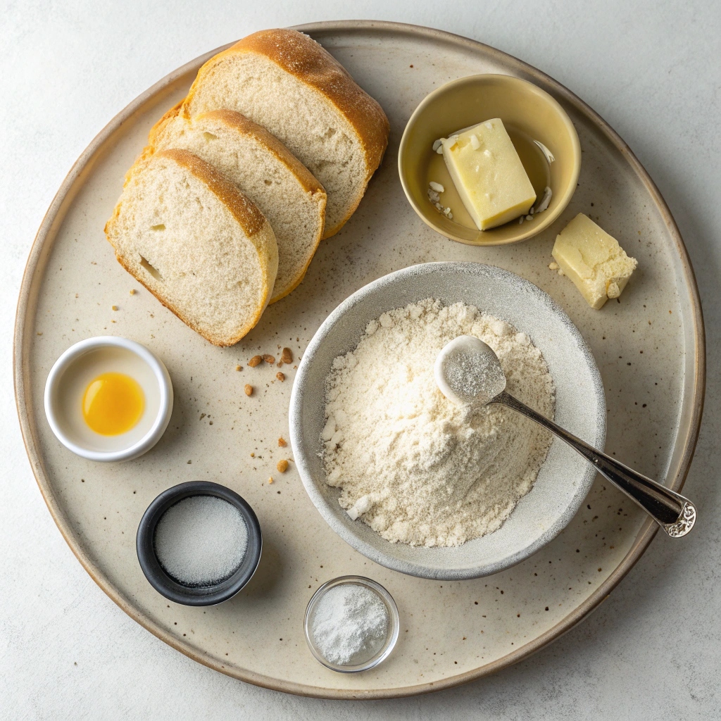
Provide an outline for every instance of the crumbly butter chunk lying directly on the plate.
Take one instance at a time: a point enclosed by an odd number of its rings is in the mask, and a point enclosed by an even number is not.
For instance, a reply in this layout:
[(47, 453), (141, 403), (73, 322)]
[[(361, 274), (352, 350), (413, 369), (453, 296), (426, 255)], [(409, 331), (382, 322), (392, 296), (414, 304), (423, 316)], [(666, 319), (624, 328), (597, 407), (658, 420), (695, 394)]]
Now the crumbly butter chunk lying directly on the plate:
[(556, 236), (551, 255), (591, 308), (618, 298), (638, 262), (588, 216), (578, 216)]

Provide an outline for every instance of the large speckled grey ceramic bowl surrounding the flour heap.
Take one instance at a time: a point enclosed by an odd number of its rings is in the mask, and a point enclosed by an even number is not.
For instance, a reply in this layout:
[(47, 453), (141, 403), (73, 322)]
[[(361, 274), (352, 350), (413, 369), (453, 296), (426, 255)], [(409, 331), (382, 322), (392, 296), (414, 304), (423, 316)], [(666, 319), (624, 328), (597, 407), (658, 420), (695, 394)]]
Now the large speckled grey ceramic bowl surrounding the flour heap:
[(333, 360), (358, 345), (369, 322), (424, 298), (476, 306), (526, 333), (554, 380), (556, 423), (599, 450), (606, 440), (606, 399), (596, 361), (565, 311), (528, 280), (490, 265), (436, 262), (404, 268), (353, 293), (318, 329), (298, 366), (290, 409), (294, 459), (312, 502), (343, 540), (381, 565), (421, 578), (478, 578), (526, 559), (554, 539), (580, 508), (596, 472), (554, 439), (534, 486), (503, 525), (455, 547), (391, 543), (360, 519), (351, 520), (338, 502), (340, 489), (325, 477), (325, 379)]

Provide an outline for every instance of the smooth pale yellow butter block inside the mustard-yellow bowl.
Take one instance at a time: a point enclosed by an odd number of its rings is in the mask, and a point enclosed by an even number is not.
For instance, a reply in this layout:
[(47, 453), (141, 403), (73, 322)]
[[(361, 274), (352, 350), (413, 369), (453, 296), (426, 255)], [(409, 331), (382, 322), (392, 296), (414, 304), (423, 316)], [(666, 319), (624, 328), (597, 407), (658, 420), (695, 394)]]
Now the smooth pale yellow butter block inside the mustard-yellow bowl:
[(479, 230), (525, 215), (536, 193), (500, 118), (441, 141), (443, 160)]

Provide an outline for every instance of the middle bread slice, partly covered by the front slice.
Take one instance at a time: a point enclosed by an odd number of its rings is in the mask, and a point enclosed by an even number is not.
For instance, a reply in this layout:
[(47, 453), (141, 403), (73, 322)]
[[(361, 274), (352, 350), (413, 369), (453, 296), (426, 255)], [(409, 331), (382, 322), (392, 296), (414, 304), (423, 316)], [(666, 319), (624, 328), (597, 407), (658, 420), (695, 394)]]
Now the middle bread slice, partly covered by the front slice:
[(189, 150), (220, 170), (260, 208), (278, 242), (278, 276), (270, 302), (303, 280), (323, 234), (326, 194), (311, 172), (265, 128), (233, 110), (187, 120), (163, 118), (149, 150)]

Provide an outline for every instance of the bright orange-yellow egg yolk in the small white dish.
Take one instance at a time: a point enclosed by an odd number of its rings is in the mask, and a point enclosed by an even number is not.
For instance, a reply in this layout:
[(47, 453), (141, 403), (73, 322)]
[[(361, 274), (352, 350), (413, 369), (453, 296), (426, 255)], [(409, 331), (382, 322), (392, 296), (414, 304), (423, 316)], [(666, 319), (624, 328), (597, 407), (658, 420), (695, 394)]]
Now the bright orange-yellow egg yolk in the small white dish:
[(125, 373), (102, 373), (83, 395), (83, 417), (95, 433), (120, 435), (138, 423), (145, 396), (138, 381)]

